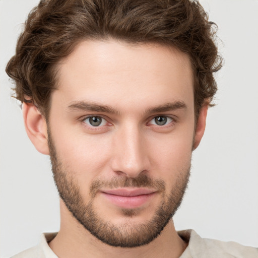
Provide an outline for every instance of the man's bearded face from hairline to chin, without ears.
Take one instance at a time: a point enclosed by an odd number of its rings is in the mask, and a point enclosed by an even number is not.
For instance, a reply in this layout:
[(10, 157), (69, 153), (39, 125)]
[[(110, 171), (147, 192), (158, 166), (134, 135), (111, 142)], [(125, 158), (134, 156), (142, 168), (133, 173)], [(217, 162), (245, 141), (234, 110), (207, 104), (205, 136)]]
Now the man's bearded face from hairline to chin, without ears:
[(187, 185), (195, 114), (187, 55), (85, 41), (58, 65), (48, 145), (61, 199), (101, 241), (147, 244)]

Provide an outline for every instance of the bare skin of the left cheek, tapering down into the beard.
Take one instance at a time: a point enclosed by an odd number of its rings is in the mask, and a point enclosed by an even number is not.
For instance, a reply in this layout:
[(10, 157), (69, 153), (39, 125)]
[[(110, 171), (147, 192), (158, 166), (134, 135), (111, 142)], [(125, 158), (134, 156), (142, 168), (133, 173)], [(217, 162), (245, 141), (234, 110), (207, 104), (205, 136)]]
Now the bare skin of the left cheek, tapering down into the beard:
[(75, 137), (60, 132), (54, 139), (56, 153), (62, 163), (62, 172), (73, 178), (83, 197), (88, 197), (92, 182), (107, 171), (110, 153), (107, 148), (110, 146), (108, 139), (100, 144), (94, 137)]

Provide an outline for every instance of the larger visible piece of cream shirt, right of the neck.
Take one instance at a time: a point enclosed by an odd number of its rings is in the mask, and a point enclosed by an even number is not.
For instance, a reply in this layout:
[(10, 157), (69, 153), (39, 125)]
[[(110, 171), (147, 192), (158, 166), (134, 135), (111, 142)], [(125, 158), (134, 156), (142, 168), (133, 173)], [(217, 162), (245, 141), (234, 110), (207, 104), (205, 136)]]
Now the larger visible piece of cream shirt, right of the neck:
[[(194, 230), (179, 231), (178, 235), (188, 240), (185, 257), (210, 258), (258, 258), (258, 249), (244, 246), (236, 242), (223, 242), (215, 239), (202, 238)], [(181, 256), (184, 258), (184, 256)]]

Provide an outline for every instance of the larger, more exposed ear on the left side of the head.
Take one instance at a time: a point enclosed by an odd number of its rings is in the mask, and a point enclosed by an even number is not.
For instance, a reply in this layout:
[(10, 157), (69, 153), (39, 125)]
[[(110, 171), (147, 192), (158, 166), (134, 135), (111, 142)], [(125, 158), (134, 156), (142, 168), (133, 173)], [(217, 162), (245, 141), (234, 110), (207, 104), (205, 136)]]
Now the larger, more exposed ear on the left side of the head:
[(22, 111), (25, 130), (32, 144), (40, 153), (49, 155), (47, 124), (44, 116), (39, 112), (38, 108), (31, 103), (24, 102)]

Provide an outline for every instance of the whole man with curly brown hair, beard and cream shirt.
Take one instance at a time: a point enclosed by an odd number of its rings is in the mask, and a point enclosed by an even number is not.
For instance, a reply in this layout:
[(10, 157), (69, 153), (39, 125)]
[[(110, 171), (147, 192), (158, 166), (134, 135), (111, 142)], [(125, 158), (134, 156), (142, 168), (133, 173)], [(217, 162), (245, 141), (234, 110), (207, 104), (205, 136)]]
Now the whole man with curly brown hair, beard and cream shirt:
[(61, 226), (18, 257), (257, 255), (171, 219), (220, 60), (196, 3), (41, 2), (7, 72), (30, 140), (50, 155)]

